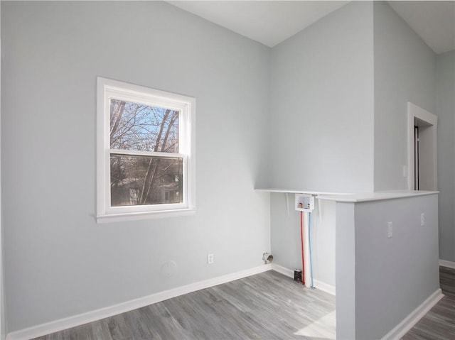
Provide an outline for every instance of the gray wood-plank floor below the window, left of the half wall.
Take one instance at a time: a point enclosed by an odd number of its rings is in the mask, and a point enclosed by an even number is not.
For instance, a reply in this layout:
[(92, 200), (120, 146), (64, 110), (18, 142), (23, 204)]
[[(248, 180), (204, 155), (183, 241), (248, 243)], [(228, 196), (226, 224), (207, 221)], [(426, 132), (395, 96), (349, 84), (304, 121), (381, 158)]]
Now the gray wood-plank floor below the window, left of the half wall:
[(270, 270), (36, 340), (335, 338), (335, 297)]

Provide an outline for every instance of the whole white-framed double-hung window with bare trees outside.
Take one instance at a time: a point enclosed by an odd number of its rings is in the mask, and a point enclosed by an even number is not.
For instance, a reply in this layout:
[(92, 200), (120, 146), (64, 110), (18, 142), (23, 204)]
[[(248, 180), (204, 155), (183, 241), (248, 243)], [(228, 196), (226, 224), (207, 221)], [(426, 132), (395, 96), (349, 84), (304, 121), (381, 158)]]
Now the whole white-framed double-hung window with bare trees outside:
[(97, 221), (195, 211), (196, 100), (98, 77)]

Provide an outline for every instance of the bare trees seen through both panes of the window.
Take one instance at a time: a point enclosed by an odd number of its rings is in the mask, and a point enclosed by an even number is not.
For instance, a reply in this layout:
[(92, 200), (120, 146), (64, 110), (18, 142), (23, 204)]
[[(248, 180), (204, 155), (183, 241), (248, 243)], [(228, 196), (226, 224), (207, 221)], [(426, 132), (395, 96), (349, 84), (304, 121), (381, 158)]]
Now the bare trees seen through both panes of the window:
[(118, 99), (109, 104), (111, 206), (183, 202), (183, 158), (170, 155), (178, 154), (180, 112)]

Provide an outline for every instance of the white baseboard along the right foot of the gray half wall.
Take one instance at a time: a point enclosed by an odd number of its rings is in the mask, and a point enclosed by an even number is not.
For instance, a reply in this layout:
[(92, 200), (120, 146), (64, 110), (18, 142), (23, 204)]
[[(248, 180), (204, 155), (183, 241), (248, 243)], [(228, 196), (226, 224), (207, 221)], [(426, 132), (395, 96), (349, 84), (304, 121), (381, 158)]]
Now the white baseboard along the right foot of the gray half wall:
[(385, 334), (385, 336), (381, 340), (401, 339), (443, 297), (444, 295), (442, 294), (442, 291), (440, 289), (436, 290), (432, 295), (430, 295), (427, 298), (427, 300), (422, 302), (422, 304), (419, 305), (419, 307), (414, 309), (411, 312), (411, 314), (409, 314), (405, 319), (403, 319), (402, 322), (400, 322), (400, 324), (397, 324), (397, 326), (394, 329)]

